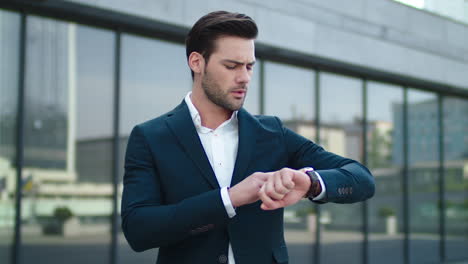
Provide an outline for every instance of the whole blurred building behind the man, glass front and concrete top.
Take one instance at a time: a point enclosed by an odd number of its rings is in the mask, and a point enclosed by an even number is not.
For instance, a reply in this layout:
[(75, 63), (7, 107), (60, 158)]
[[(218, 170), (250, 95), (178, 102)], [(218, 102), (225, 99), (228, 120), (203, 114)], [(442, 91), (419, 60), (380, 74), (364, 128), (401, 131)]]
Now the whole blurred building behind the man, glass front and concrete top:
[(245, 108), (371, 168), (353, 205), (285, 210), (290, 263), (468, 262), (467, 0), (0, 2), (0, 263), (154, 263), (120, 231), (134, 125), (191, 89), (184, 36), (259, 26)]

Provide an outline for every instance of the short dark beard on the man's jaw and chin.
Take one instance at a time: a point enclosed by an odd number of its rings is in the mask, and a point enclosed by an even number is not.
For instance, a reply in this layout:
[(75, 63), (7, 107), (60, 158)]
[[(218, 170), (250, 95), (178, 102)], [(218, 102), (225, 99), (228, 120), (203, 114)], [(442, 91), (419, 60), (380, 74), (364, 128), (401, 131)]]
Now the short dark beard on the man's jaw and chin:
[(205, 71), (205, 75), (202, 79), (202, 88), (206, 94), (206, 97), (215, 105), (222, 107), (229, 111), (237, 111), (241, 109), (244, 105), (245, 97), (247, 93), (244, 95), (242, 99), (234, 99), (230, 97), (232, 91), (236, 89), (245, 89), (247, 90), (247, 85), (241, 85), (233, 88), (229, 88), (226, 91), (223, 91), (219, 83), (216, 82), (213, 78), (211, 78), (211, 74)]

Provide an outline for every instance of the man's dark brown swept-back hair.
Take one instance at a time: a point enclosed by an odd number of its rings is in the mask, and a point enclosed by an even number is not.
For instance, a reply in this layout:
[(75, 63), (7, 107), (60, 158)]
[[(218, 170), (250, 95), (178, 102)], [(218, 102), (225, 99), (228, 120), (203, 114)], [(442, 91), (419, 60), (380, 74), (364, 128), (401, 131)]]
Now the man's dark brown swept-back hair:
[(208, 62), (216, 48), (215, 41), (221, 36), (255, 39), (257, 34), (255, 21), (247, 15), (227, 11), (211, 12), (201, 17), (187, 34), (185, 38), (187, 59), (195, 51)]

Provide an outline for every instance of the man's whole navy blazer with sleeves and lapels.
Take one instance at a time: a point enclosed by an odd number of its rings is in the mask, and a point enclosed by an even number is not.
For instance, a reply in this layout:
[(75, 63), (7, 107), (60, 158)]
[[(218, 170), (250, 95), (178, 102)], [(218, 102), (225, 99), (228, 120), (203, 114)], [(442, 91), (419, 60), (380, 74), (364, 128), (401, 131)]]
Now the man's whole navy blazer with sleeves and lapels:
[[(285, 128), (277, 117), (238, 112), (239, 147), (231, 186), (258, 171), (313, 167), (326, 186), (324, 202), (353, 203), (374, 194), (371, 173)], [(229, 218), (220, 186), (182, 102), (131, 132), (125, 156), (122, 229), (135, 251), (159, 248), (159, 264), (288, 263), (283, 209), (261, 202)]]

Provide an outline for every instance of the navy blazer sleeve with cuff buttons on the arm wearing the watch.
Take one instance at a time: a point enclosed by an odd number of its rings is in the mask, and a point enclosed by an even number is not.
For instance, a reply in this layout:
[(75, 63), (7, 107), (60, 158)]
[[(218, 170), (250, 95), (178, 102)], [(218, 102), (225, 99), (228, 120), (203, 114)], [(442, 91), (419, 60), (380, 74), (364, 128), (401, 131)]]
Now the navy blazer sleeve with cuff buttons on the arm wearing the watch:
[[(279, 119), (278, 122), (281, 124)], [(365, 166), (325, 151), (283, 125), (281, 127), (289, 157), (288, 164), (294, 169), (312, 167), (320, 174), (326, 187), (326, 198), (321, 202), (354, 203), (374, 195), (374, 177)]]

